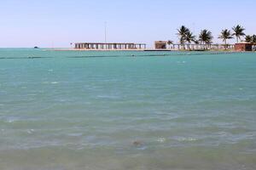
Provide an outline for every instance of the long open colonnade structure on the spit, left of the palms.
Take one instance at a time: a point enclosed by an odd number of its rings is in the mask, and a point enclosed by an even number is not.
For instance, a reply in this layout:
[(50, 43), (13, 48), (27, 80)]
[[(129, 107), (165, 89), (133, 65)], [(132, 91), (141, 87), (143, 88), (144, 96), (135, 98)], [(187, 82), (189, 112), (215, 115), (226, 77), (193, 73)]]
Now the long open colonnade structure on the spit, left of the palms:
[(145, 49), (145, 43), (102, 43), (102, 42), (79, 42), (75, 43), (76, 49), (93, 49), (93, 50), (125, 50), (125, 49)]

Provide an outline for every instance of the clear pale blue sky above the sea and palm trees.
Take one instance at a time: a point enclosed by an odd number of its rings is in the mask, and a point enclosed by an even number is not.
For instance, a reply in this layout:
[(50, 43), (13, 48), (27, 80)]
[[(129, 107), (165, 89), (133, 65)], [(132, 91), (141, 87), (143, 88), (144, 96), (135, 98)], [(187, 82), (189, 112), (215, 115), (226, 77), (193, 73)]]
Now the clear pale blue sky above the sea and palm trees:
[[(178, 42), (177, 28), (195, 35), (237, 24), (256, 34), (255, 0), (2, 0), (0, 48), (68, 48), (71, 42)], [(231, 40), (230, 42), (234, 42)]]

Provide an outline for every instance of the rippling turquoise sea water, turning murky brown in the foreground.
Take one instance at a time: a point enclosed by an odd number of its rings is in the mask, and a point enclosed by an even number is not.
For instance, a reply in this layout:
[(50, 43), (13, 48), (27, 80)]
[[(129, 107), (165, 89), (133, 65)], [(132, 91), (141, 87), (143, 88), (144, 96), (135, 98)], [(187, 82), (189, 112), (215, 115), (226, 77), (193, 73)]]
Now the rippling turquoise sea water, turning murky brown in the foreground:
[(0, 169), (256, 169), (256, 54), (0, 49)]

